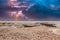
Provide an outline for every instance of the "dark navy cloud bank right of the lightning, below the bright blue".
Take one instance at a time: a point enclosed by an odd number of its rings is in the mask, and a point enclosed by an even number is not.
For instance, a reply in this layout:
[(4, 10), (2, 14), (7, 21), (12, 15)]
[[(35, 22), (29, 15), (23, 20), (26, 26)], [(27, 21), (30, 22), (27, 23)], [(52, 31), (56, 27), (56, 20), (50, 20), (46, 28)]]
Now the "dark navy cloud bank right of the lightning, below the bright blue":
[(34, 5), (25, 15), (35, 20), (60, 20), (60, 10), (51, 10), (45, 6)]

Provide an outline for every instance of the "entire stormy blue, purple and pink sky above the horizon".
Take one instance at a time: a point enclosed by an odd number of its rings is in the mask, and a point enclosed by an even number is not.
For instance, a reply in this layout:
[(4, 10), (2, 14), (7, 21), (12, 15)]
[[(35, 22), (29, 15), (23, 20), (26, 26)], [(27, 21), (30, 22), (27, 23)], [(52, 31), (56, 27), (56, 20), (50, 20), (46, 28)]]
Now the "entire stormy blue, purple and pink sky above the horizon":
[(0, 0), (1, 21), (60, 21), (60, 0)]

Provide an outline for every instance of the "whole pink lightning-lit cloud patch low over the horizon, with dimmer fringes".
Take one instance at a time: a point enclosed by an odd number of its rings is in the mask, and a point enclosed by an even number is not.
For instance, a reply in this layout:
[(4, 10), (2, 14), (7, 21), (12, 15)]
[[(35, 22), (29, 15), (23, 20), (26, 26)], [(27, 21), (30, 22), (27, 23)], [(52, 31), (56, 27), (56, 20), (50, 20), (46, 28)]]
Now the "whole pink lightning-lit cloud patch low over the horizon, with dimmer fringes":
[(12, 11), (12, 12), (8, 12), (8, 13), (9, 13), (10, 17), (13, 18), (14, 20), (19, 20), (19, 19), (25, 17), (25, 15), (22, 13), (22, 11)]

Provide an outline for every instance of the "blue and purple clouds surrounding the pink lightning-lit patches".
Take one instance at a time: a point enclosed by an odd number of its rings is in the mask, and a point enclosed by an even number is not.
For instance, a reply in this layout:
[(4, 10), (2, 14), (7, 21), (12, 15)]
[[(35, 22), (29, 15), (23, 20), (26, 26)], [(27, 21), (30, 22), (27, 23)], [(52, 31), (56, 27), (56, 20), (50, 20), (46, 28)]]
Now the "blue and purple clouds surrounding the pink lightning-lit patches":
[(45, 20), (60, 21), (60, 1), (59, 0), (18, 0), (17, 3), (25, 5), (26, 8), (7, 7), (7, 0), (0, 0), (0, 20), (15, 20), (10, 17), (9, 12), (22, 10), (23, 15), (18, 20)]

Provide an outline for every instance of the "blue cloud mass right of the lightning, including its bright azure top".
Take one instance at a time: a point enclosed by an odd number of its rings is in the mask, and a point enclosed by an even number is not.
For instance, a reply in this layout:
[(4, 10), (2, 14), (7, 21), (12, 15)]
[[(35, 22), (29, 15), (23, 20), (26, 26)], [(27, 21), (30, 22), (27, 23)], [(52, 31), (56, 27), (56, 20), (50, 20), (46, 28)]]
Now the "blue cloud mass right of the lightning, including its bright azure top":
[[(42, 0), (34, 0), (35, 4), (24, 13), (28, 17), (35, 18), (35, 20), (60, 20), (60, 1), (49, 0), (48, 2)], [(40, 2), (41, 3), (40, 3)], [(44, 3), (43, 3), (44, 2)], [(46, 4), (48, 3), (48, 5)]]

